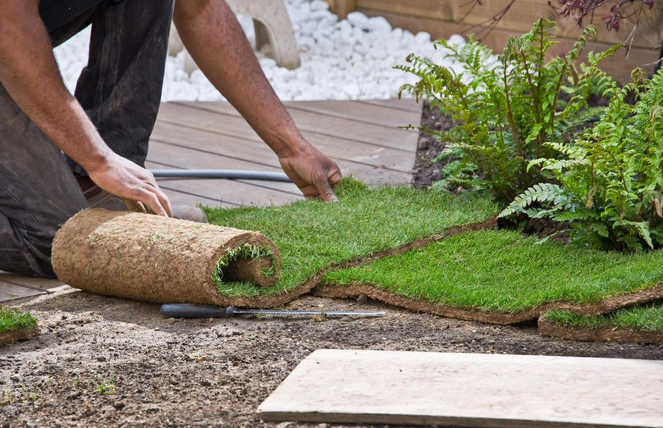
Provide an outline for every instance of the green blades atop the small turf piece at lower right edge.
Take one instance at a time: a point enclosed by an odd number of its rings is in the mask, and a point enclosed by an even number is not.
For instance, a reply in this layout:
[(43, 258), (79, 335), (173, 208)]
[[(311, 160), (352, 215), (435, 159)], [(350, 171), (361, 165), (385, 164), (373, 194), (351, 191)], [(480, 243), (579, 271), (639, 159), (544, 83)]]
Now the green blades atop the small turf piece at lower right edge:
[(553, 309), (546, 312), (544, 320), (566, 327), (585, 329), (633, 329), (640, 331), (663, 331), (663, 304), (648, 304), (640, 307), (619, 309), (606, 315), (579, 315), (573, 311)]

